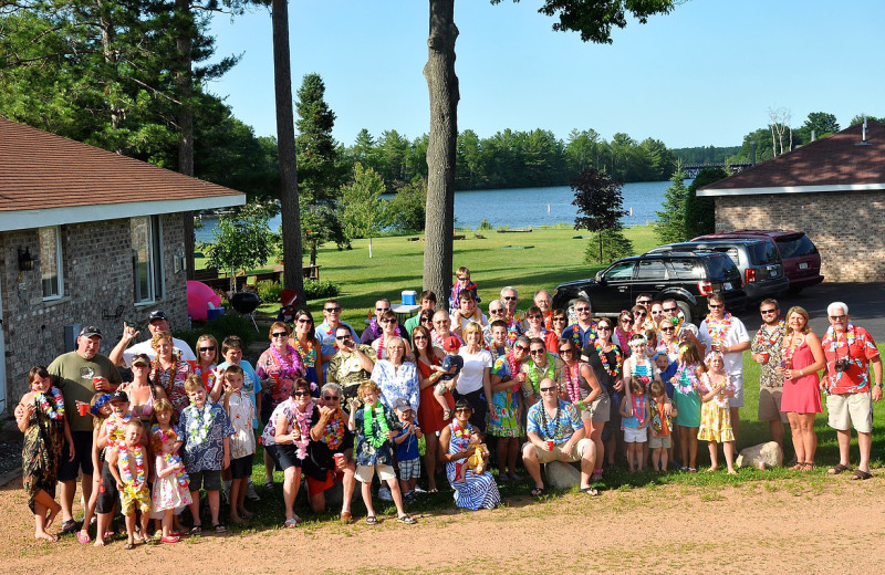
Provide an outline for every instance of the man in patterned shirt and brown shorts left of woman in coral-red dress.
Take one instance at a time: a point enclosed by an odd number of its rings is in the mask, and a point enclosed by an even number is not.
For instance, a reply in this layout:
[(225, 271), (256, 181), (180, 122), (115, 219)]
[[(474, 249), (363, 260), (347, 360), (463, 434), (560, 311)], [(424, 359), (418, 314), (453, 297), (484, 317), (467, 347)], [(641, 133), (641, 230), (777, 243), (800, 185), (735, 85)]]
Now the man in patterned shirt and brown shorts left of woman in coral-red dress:
[(756, 332), (750, 343), (750, 353), (753, 362), (759, 364), (759, 410), (757, 417), (760, 421), (768, 421), (771, 440), (777, 441), (783, 449), (783, 425), (787, 414), (781, 411), (781, 395), (783, 393), (783, 376), (778, 376), (774, 370), (781, 363), (781, 347), (783, 345), (784, 322), (777, 300), (762, 300), (759, 304), (762, 315), (762, 325)]

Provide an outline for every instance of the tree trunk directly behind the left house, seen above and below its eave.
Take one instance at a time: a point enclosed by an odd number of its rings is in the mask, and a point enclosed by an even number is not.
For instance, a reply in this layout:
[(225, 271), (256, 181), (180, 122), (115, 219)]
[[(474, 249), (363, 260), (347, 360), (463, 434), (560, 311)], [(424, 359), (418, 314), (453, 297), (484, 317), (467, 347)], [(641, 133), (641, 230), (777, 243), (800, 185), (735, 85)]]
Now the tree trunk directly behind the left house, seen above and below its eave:
[[(194, 176), (194, 107), (190, 103), (192, 94), (192, 58), (190, 52), (191, 36), (194, 34), (194, 14), (190, 12), (189, 0), (175, 0), (176, 21), (178, 35), (175, 48), (178, 51), (178, 71), (175, 83), (181, 105), (178, 108), (178, 129), (181, 133), (178, 140), (178, 171), (185, 176)], [(181, 213), (184, 219), (185, 236), (185, 276), (194, 279), (194, 212)]]

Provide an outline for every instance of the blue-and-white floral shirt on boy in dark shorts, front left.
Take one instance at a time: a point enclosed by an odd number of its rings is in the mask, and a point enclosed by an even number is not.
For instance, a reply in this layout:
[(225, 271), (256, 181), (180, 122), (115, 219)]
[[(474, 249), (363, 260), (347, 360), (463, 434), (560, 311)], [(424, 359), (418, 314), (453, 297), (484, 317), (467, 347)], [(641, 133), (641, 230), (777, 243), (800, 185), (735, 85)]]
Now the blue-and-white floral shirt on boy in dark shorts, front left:
[(194, 428), (201, 426), (204, 417), (201, 409), (190, 405), (181, 411), (181, 419), (178, 421), (178, 436), (185, 441), (181, 447), (181, 461), (188, 473), (221, 471), (225, 459), (223, 440), (235, 433), (225, 408), (218, 404), (211, 404), (209, 429), (205, 438), (198, 439), (195, 437)]

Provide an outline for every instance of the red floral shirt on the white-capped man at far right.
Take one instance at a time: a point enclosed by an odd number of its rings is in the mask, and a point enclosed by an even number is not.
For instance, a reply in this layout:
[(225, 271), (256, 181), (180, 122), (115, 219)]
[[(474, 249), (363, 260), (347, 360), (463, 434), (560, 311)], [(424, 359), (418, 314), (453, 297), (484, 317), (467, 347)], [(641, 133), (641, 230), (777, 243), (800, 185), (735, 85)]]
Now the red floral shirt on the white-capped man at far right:
[[(878, 357), (876, 342), (863, 327), (848, 324), (845, 333), (836, 335), (831, 327), (821, 342), (826, 358), (824, 385), (829, 394), (862, 394), (870, 391), (870, 362)], [(848, 368), (836, 369), (836, 362), (848, 358)]]

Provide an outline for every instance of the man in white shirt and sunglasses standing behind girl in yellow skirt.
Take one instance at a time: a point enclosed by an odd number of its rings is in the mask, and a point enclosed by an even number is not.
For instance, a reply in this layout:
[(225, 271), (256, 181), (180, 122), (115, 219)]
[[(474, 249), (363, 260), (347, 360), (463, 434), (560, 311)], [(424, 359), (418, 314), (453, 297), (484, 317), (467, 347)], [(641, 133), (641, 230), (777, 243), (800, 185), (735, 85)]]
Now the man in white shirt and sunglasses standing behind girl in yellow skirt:
[(735, 436), (740, 428), (740, 408), (743, 407), (743, 352), (750, 348), (750, 335), (743, 322), (726, 312), (721, 294), (707, 297), (709, 315), (700, 323), (698, 339), (707, 352), (719, 352), (726, 363), (726, 372), (735, 384), (735, 397), (728, 400), (731, 408), (731, 427)]

